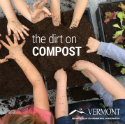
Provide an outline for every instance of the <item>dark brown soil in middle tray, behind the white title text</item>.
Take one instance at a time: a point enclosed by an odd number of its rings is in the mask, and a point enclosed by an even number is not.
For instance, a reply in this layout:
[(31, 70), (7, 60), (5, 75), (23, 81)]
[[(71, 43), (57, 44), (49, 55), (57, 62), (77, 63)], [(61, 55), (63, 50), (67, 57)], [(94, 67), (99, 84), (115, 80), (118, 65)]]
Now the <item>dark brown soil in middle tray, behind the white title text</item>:
[[(41, 72), (45, 75), (46, 81), (48, 84), (48, 89), (55, 89), (56, 88), (56, 81), (54, 80), (54, 73), (60, 69), (64, 68), (64, 70), (67, 72), (68, 75), (68, 87), (75, 87), (75, 86), (83, 86), (85, 83), (89, 83), (90, 81), (85, 78), (81, 72), (73, 71), (72, 65), (77, 60), (88, 60), (90, 62), (95, 63), (99, 67), (101, 67), (101, 57), (98, 56), (96, 53), (87, 54), (86, 50), (88, 49), (86, 47), (86, 43), (88, 41), (88, 38), (95, 37), (94, 29), (92, 27), (92, 24), (89, 22), (86, 15), (82, 17), (82, 20), (80, 22), (80, 25), (78, 28), (74, 28), (72, 30), (69, 29), (71, 20), (72, 20), (73, 12), (64, 12), (62, 13), (62, 24), (59, 27), (54, 27), (52, 24), (51, 19), (46, 19), (43, 22), (40, 22), (37, 24), (38, 30), (38, 36), (46, 37), (46, 43), (39, 43), (39, 47), (49, 46), (50, 48), (60, 46), (60, 47), (76, 47), (76, 46), (82, 46), (81, 49), (81, 55), (77, 56), (77, 54), (73, 57), (71, 56), (63, 56), (62, 53), (58, 54), (58, 57), (56, 56), (44, 56), (39, 58), (40, 63), (40, 69)], [(50, 44), (49, 43), (49, 37), (52, 34), (56, 34), (56, 36), (63, 36), (63, 43), (58, 42), (57, 44)], [(67, 36), (76, 36), (77, 43), (70, 43), (67, 44), (65, 41), (65, 38)]]

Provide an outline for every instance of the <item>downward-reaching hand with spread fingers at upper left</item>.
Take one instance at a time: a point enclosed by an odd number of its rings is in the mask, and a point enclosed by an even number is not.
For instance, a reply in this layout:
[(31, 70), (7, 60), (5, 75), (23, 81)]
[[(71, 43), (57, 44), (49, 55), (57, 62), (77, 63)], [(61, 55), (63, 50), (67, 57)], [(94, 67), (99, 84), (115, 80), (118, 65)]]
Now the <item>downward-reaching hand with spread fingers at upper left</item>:
[[(8, 20), (8, 24), (7, 24), (7, 30), (8, 30), (8, 35), (11, 35), (11, 30), (14, 32), (14, 34), (16, 35), (17, 39), (20, 40), (19, 35), (22, 37), (23, 40), (25, 40), (24, 34), (26, 36), (29, 36), (29, 34), (27, 33), (27, 31), (29, 31), (29, 29), (22, 25), (17, 19), (16, 20)], [(23, 34), (24, 33), (24, 34)]]

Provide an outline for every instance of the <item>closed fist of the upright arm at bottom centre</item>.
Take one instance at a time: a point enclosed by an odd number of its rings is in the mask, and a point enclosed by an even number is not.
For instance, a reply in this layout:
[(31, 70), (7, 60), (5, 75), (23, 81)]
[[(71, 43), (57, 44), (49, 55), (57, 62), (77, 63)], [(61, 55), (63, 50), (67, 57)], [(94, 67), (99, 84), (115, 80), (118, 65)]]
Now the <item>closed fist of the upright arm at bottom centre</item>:
[(67, 74), (63, 69), (57, 70), (54, 79), (57, 81), (57, 83), (66, 83), (67, 82)]

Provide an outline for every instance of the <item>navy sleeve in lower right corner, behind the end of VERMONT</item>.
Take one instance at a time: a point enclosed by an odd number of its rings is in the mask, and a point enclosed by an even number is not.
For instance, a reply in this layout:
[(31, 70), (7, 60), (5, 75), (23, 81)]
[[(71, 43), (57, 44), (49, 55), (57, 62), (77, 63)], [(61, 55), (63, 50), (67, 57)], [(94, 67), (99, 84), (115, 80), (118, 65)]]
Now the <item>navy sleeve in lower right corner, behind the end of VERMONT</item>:
[(119, 122), (125, 124), (125, 99), (115, 100), (113, 102), (113, 110), (117, 110), (116, 116), (120, 118)]

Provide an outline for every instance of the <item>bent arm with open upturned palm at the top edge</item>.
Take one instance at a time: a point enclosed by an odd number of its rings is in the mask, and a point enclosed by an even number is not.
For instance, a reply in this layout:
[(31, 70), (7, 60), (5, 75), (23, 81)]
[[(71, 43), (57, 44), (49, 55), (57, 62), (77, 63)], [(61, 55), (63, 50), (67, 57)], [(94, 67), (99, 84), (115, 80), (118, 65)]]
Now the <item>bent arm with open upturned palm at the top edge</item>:
[(44, 7), (44, 5), (47, 3), (47, 0), (44, 0), (43, 2), (40, 2), (40, 0), (38, 0), (37, 2), (35, 2), (33, 4), (33, 11), (24, 2), (24, 0), (13, 0), (13, 2), (17, 10), (32, 23), (37, 23), (44, 18), (51, 16), (50, 11), (46, 7)]

